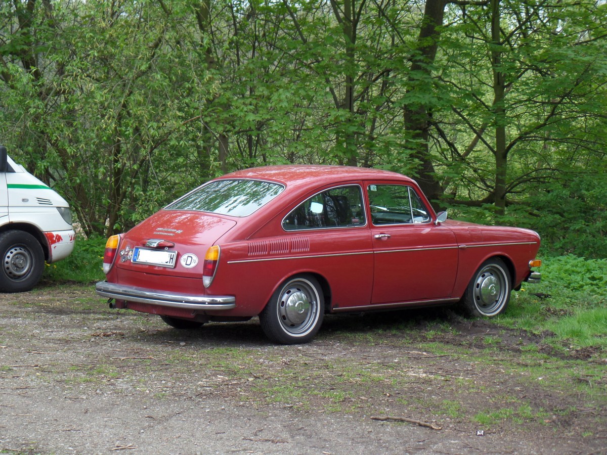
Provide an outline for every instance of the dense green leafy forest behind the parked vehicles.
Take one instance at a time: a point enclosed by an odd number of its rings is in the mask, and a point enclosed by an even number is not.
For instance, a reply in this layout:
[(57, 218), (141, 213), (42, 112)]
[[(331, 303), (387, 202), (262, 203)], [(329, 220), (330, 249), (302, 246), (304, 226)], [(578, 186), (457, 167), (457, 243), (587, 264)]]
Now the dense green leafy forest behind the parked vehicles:
[(2, 0), (0, 143), (125, 231), (230, 170), (372, 166), (607, 257), (604, 0)]

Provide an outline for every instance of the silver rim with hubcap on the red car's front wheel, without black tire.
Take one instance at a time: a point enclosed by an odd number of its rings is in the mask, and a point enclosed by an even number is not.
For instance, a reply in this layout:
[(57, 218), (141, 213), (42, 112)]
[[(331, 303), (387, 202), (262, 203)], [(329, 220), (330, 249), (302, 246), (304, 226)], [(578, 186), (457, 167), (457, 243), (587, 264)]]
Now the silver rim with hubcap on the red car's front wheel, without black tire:
[(486, 266), (478, 272), (474, 283), (474, 303), (478, 311), (492, 316), (501, 311), (506, 304), (510, 285), (506, 273), (495, 264)]

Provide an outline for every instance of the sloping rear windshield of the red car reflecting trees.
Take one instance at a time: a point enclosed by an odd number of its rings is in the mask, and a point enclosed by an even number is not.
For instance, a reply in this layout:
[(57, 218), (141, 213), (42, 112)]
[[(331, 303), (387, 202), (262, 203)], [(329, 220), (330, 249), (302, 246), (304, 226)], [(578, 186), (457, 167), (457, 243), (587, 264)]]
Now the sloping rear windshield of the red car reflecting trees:
[(169, 210), (197, 210), (246, 217), (279, 195), (284, 187), (262, 180), (215, 180), (169, 204)]

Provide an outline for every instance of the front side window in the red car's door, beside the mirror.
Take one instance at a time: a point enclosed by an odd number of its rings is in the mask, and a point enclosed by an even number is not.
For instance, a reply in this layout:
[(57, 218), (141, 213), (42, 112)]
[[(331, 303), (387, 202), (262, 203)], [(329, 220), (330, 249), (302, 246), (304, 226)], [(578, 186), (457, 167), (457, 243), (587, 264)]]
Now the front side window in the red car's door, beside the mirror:
[(379, 224), (427, 223), (426, 206), (412, 187), (406, 185), (369, 185), (367, 187), (371, 222)]

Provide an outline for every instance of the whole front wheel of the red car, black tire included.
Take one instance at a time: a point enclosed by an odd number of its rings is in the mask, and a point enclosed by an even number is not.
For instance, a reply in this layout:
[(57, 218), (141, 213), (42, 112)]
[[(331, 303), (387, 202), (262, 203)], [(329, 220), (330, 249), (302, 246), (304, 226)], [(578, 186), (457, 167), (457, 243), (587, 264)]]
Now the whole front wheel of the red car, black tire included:
[(510, 302), (512, 279), (504, 261), (491, 258), (483, 263), (461, 299), (464, 311), (473, 317), (492, 317), (503, 313)]

